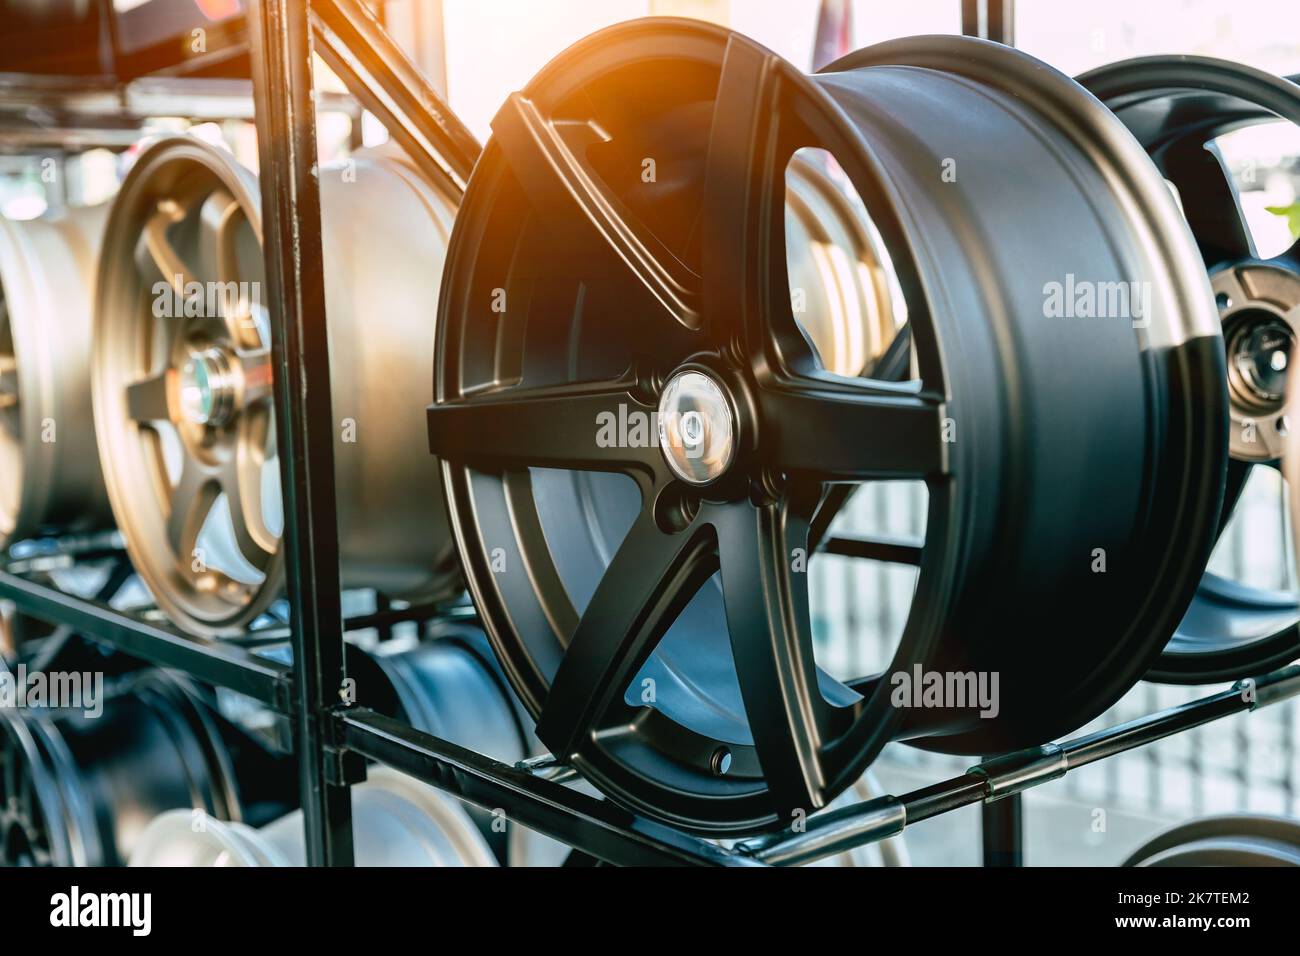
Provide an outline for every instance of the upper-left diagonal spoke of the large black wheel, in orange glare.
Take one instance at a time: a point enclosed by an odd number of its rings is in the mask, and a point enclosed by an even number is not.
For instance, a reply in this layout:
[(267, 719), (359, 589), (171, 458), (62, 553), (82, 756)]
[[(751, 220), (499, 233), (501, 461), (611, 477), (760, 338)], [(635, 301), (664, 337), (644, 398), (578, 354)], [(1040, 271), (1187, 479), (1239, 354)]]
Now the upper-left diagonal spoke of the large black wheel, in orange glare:
[(572, 245), (577, 261), (630, 276), (680, 328), (699, 326), (696, 277), (581, 159), (588, 147), (608, 142), (604, 130), (547, 118), (514, 94), (493, 120), (493, 137), (534, 212), (554, 226), (558, 242)]

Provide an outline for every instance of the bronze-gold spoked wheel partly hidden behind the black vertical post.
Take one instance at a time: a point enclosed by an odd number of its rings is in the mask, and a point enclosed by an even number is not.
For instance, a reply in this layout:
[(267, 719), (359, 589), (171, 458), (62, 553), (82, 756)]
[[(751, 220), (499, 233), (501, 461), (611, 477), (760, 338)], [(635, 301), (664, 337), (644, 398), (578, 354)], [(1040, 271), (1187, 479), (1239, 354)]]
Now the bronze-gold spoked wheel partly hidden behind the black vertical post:
[[(460, 587), (412, 395), (428, 392), (454, 207), (404, 163), (321, 170), (342, 575), (404, 598)], [(191, 138), (147, 148), (109, 216), (94, 402), (127, 550), (159, 606), (238, 632), (282, 591), (282, 505), (257, 183)], [(419, 402), (419, 399), (416, 399)]]

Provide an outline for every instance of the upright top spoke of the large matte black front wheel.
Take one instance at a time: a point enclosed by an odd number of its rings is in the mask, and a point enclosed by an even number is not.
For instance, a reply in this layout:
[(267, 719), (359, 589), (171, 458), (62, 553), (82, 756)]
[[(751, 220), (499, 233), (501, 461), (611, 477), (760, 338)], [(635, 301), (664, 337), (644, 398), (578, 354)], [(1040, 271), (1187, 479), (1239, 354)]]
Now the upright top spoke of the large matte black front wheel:
[(710, 336), (742, 336), (753, 355), (771, 343), (786, 368), (812, 367), (785, 281), (785, 164), (777, 148), (780, 57), (732, 38), (708, 131), (703, 302)]

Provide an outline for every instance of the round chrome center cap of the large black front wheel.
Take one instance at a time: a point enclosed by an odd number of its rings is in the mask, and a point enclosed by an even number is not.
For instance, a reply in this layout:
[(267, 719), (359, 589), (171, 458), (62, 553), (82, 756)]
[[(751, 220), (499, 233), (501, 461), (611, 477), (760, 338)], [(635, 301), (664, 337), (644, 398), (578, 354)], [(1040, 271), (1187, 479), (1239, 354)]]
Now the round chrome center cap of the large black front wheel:
[(659, 447), (673, 475), (693, 485), (722, 477), (736, 458), (727, 394), (703, 372), (679, 372), (659, 397)]

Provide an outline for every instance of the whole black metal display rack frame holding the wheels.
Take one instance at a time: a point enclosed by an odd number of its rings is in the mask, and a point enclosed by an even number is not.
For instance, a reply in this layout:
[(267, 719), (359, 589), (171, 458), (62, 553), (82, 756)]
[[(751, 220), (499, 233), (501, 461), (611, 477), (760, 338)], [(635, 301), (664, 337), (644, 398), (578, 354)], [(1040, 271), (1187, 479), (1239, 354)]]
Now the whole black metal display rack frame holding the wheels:
[[(1300, 695), (1300, 665), (1169, 710), (987, 760), (902, 796), (814, 816), (786, 830), (723, 847), (566, 786), (573, 771), (550, 757), (510, 766), (343, 702), (344, 633), (428, 617), (386, 610), (344, 620), (333, 494), (333, 419), (322, 280), (316, 91), (312, 52), (344, 79), (430, 177), (463, 193), (478, 144), (360, 0), (260, 0), (250, 5), (255, 117), (285, 498), (287, 636), (294, 665), (246, 643), (203, 640), (99, 598), (72, 596), (0, 570), (0, 597), (32, 618), (127, 654), (252, 697), (292, 726), (311, 865), (354, 862), (350, 787), (378, 761), (471, 804), (499, 809), (575, 849), (572, 860), (616, 865), (794, 865), (901, 832), (959, 806), (984, 804), (984, 861), (1022, 862), (1019, 795), (1069, 770), (1206, 722)], [(1009, 0), (963, 0), (967, 34), (1010, 39)], [(125, 561), (125, 558), (120, 558)], [(129, 570), (129, 568), (127, 568)], [(283, 636), (283, 632), (281, 632)]]

